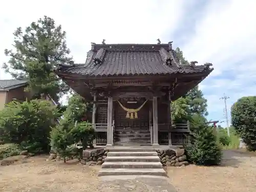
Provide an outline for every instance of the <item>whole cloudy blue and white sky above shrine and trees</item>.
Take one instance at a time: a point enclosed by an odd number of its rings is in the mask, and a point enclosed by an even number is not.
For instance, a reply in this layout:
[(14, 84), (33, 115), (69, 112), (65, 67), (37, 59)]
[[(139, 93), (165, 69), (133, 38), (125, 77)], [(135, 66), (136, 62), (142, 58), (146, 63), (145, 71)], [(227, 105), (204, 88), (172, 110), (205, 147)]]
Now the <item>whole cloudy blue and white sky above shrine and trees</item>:
[[(256, 95), (256, 1), (45, 0), (39, 8), (34, 1), (13, 0), (0, 5), (0, 66), (8, 60), (4, 49), (12, 48), (16, 27), (47, 15), (67, 32), (68, 47), (78, 63), (86, 60), (90, 43), (103, 38), (108, 44), (174, 41), (189, 61), (211, 62), (215, 71), (200, 83), (208, 100), (208, 119), (224, 120), (224, 101), (219, 99), (224, 92), (229, 96), (229, 119), (233, 102)], [(0, 70), (0, 79), (9, 78)]]

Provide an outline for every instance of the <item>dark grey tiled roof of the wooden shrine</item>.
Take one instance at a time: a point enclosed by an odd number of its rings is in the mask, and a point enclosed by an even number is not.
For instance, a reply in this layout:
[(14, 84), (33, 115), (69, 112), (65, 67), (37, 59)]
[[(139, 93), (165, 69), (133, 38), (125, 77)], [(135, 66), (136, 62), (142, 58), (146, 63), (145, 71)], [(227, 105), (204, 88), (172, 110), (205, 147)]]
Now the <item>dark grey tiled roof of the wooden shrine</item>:
[[(154, 75), (197, 73), (209, 66), (181, 66), (169, 44), (141, 45), (115, 44), (92, 45), (86, 63), (59, 66), (56, 73), (72, 73), (85, 76)], [(209, 71), (210, 72), (210, 71)]]

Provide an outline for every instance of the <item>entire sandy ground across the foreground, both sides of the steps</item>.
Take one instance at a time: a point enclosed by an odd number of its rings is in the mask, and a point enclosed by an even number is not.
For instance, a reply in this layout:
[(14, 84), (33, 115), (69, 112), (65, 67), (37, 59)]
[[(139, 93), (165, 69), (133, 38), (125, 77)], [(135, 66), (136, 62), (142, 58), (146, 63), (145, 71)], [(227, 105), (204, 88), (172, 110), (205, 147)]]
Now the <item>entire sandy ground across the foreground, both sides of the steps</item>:
[[(148, 179), (102, 182), (97, 177), (98, 166), (81, 165), (73, 160), (67, 164), (47, 162), (46, 158), (32, 157), (27, 162), (0, 166), (0, 191), (152, 191), (146, 184)], [(244, 152), (224, 152), (221, 166), (168, 167), (167, 173), (170, 183), (180, 192), (256, 191), (256, 156)], [(175, 191), (173, 187), (169, 189), (162, 191)]]

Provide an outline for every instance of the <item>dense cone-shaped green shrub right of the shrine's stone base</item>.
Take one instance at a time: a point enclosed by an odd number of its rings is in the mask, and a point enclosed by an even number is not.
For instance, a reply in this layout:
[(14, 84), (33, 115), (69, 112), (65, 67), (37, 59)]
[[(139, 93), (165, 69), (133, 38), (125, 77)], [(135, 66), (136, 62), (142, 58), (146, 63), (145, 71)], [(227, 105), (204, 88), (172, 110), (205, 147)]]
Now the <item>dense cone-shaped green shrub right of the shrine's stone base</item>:
[(198, 119), (196, 129), (186, 146), (188, 160), (197, 165), (217, 165), (221, 162), (221, 147), (211, 127), (203, 119)]

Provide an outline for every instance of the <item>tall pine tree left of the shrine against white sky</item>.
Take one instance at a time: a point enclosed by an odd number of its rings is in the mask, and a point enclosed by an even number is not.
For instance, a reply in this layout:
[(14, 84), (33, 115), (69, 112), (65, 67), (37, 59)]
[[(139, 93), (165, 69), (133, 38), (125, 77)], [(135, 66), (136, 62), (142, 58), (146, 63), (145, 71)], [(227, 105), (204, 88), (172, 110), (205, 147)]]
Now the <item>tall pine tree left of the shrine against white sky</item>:
[(35, 97), (49, 94), (55, 101), (69, 88), (53, 72), (56, 63), (71, 63), (66, 45), (66, 32), (55, 25), (52, 18), (44, 16), (14, 34), (14, 50), (5, 50), (10, 56), (3, 69), (16, 79), (28, 79), (27, 91)]

